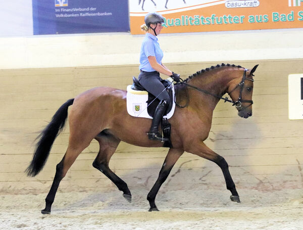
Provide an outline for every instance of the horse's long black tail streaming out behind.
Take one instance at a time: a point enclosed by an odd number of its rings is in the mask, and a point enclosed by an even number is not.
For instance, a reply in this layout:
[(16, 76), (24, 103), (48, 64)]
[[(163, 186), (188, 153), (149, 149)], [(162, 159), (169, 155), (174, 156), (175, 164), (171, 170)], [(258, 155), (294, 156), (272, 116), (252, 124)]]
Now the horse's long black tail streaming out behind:
[(52, 121), (38, 135), (37, 139), (40, 140), (36, 145), (33, 159), (25, 170), (28, 176), (35, 176), (42, 170), (56, 137), (64, 127), (67, 118), (68, 107), (72, 105), (73, 102), (74, 99), (70, 99), (64, 103), (57, 110), (52, 118)]

